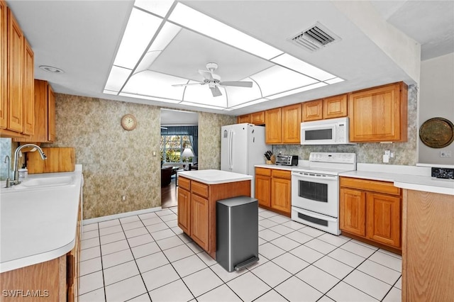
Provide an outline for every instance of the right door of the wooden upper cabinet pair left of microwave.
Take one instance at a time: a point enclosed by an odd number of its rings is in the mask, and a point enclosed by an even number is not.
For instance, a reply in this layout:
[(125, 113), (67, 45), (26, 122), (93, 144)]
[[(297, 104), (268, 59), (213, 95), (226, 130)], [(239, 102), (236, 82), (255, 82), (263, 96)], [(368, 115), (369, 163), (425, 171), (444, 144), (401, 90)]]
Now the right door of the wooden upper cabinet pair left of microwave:
[(301, 104), (282, 107), (282, 142), (301, 142)]

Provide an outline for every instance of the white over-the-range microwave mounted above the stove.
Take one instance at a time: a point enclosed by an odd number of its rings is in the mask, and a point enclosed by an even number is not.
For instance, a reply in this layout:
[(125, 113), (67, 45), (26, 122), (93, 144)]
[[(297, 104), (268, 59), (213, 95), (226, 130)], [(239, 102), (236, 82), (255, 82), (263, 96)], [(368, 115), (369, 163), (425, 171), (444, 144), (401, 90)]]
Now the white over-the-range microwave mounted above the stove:
[(330, 118), (301, 123), (301, 145), (345, 144), (350, 145), (348, 118)]

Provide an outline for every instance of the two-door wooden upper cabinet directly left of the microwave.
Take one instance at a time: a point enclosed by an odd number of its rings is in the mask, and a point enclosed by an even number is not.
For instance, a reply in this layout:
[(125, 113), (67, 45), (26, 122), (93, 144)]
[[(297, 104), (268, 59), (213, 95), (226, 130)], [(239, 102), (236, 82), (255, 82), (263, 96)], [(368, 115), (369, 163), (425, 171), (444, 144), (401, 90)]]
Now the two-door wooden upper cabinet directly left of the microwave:
[(265, 111), (267, 144), (299, 144), (301, 142), (301, 104)]

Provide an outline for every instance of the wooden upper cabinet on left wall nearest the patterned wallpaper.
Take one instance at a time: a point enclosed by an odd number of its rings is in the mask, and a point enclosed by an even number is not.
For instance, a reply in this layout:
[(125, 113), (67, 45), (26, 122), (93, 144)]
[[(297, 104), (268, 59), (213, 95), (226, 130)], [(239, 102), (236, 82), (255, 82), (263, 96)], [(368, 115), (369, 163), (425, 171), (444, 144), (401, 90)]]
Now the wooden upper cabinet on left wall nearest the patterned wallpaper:
[(47, 81), (34, 80), (34, 128), (35, 132), (25, 138), (14, 138), (15, 142), (55, 141), (55, 94)]

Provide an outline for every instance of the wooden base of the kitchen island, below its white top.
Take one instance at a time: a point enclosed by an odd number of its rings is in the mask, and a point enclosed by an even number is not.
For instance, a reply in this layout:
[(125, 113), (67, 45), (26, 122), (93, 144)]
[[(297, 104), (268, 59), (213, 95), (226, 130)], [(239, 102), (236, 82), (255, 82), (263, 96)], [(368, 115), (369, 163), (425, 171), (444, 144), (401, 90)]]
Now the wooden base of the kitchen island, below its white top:
[(250, 196), (250, 180), (204, 184), (178, 177), (178, 226), (216, 259), (216, 201)]

